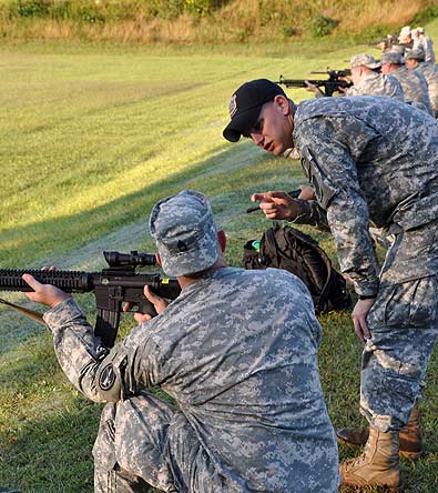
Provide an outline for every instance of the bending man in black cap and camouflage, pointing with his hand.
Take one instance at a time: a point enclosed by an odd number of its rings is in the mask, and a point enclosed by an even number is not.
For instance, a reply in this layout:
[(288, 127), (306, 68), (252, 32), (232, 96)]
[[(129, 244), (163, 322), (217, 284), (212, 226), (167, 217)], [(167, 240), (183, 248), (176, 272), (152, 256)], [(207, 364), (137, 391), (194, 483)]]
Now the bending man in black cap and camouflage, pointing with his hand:
[[(396, 491), (399, 430), (420, 396), (438, 335), (438, 123), (394, 98), (296, 105), (265, 79), (237, 89), (230, 115), (223, 134), (232, 142), (245, 135), (275, 155), (296, 148), (326, 211), (340, 269), (359, 298), (352, 318), (365, 342), (360, 411), (369, 436), (364, 453), (340, 465), (342, 484)], [(314, 211), (284, 192), (252, 200), (271, 220), (299, 221)], [(394, 234), (380, 273), (370, 220)]]

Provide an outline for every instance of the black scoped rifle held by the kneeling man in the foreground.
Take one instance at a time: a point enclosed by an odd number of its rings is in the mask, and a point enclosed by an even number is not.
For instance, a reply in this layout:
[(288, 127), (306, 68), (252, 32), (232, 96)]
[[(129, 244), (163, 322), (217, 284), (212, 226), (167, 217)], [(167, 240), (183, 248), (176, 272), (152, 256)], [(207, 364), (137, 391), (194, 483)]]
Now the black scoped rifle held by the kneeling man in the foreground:
[(153, 304), (144, 296), (149, 285), (161, 298), (174, 300), (181, 292), (175, 279), (162, 278), (159, 273), (135, 272), (135, 268), (155, 265), (155, 255), (132, 251), (131, 253), (103, 252), (109, 268), (102, 272), (40, 271), (0, 269), (0, 291), (33, 291), (21, 276), (33, 275), (43, 284), (52, 284), (65, 293), (94, 292), (96, 320), (94, 334), (112, 348), (118, 335), (122, 303), (139, 306), (141, 313), (156, 315)]

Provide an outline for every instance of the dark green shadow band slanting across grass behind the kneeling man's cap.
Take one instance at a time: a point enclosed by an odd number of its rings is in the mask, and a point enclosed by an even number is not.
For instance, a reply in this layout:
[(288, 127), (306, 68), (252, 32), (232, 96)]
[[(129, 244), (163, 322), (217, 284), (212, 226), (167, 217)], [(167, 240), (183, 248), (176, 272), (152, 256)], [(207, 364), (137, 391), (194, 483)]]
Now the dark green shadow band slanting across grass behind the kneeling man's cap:
[(228, 185), (230, 173), (268, 159), (267, 154), (259, 153), (249, 143), (236, 148), (224, 145), (212, 158), (176, 172), (159, 183), (147, 185), (147, 177), (144, 177), (146, 184), (140, 191), (104, 205), (73, 215), (34, 221), (24, 227), (4, 230), (3, 245), (13, 244), (14, 251), (12, 252), (10, 247), (1, 247), (0, 265), (11, 269), (26, 268), (45, 256), (48, 252), (54, 254), (67, 248), (77, 249), (140, 218), (146, 219), (159, 199), (184, 188), (197, 188), (208, 195), (220, 194)]

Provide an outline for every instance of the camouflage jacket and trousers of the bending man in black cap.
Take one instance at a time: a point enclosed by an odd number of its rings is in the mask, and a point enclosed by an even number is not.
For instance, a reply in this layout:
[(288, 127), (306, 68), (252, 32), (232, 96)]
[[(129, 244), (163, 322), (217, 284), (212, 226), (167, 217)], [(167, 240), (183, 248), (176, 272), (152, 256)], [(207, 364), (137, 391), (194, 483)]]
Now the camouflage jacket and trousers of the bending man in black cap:
[[(361, 413), (400, 430), (419, 399), (438, 334), (438, 123), (394, 99), (326, 98), (298, 104), (293, 139), (342, 271), (376, 296), (361, 366)], [(378, 273), (369, 221), (394, 234)]]

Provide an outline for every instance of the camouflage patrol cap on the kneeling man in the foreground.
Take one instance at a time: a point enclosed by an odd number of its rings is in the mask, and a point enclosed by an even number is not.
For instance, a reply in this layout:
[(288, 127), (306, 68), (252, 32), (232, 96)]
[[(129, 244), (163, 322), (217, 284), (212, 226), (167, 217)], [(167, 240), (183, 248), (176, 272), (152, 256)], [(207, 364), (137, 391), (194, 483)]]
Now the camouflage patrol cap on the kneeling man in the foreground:
[(149, 228), (167, 275), (201, 272), (217, 260), (220, 247), (212, 208), (200, 192), (183, 190), (157, 202)]

